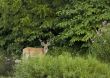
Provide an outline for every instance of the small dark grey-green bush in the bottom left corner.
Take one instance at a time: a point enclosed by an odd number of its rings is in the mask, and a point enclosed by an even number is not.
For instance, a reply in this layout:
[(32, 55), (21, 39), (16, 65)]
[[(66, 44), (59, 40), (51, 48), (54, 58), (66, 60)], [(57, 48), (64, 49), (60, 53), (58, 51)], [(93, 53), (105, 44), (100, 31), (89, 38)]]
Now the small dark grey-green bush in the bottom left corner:
[(11, 57), (0, 55), (0, 76), (12, 76), (13, 66), (14, 60)]

